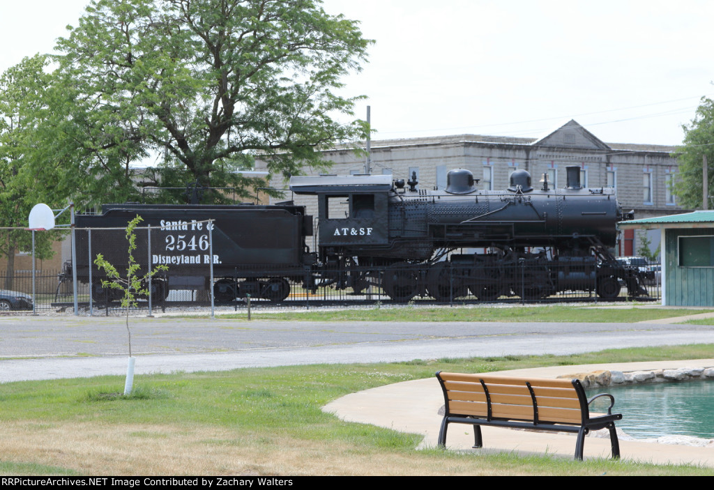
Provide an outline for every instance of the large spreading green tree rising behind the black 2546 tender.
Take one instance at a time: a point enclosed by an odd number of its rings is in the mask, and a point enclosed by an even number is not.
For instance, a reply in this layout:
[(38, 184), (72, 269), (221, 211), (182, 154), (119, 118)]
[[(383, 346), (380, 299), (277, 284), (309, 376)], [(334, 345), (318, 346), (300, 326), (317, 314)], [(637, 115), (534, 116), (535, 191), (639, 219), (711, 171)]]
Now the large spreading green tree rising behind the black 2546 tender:
[(130, 185), (131, 164), (154, 158), (149, 183), (249, 195), (263, 183), (236, 170), (255, 155), (293, 175), (366, 131), (338, 91), (371, 41), (318, 0), (93, 0), (70, 29), (57, 61), (79, 178)]

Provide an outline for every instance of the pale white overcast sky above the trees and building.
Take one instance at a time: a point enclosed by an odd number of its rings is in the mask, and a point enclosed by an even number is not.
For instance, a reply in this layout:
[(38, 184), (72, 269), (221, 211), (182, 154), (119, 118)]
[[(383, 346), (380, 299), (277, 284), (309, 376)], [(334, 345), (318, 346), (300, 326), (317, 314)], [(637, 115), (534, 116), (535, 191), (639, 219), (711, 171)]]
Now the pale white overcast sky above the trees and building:
[[(89, 0), (0, 0), (0, 71), (49, 53)], [(326, 0), (361, 22), (373, 140), (461, 133), (538, 138), (575, 119), (610, 143), (677, 145), (714, 97), (714, 2)]]

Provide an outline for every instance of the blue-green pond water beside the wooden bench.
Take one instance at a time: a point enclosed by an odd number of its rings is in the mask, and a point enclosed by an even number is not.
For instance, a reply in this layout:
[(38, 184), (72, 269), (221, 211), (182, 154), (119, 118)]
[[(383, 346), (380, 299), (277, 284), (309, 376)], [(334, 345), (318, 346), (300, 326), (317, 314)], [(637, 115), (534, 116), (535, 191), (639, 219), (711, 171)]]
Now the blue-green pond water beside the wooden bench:
[[(623, 414), (615, 427), (634, 439), (668, 435), (714, 439), (714, 381), (630, 384), (585, 391), (588, 399), (598, 393), (612, 394), (613, 413)], [(606, 397), (597, 399), (590, 410), (605, 413), (609, 402)]]

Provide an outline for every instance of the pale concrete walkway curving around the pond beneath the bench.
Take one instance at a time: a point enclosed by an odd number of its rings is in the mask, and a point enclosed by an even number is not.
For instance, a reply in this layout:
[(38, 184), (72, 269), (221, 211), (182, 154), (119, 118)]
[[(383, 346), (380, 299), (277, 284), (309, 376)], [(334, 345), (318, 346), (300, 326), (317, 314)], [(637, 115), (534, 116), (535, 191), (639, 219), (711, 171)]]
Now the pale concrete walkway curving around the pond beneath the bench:
[[(636, 371), (640, 369), (675, 369), (678, 367), (711, 367), (714, 359), (690, 361), (633, 362), (620, 364), (583, 364), (579, 366), (516, 369), (499, 374), (524, 377), (558, 377), (576, 372), (593, 372), (600, 369)], [(495, 374), (495, 373), (489, 373)], [(443, 394), (436, 378), (417, 379), (348, 394), (323, 408), (346, 422), (373, 424), (403, 432), (423, 434), (422, 447), (436, 446), (443, 405)], [(627, 417), (627, 414), (623, 414)], [(573, 458), (575, 434), (526, 432), (497, 427), (483, 427), (483, 449), (472, 449), (473, 429), (464, 424), (450, 426), (446, 439), (448, 449), (464, 451), (516, 451), (519, 454), (557, 454)], [(699, 464), (714, 467), (714, 441), (705, 447), (678, 444), (657, 444), (620, 439), (623, 459), (656, 464)], [(585, 439), (585, 459), (609, 458), (608, 437)]]

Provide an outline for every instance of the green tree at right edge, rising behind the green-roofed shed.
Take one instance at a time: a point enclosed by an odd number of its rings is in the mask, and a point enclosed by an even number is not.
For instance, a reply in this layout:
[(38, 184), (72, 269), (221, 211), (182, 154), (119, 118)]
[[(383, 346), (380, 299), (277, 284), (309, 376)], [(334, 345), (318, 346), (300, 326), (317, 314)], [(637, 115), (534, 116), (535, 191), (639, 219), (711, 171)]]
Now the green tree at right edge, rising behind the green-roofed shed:
[[(675, 152), (679, 162), (679, 178), (674, 192), (685, 208), (702, 207), (702, 163), (708, 163), (708, 193), (714, 195), (714, 101), (702, 98), (693, 120), (682, 126), (683, 145)], [(711, 203), (711, 200), (710, 200)], [(712, 208), (712, 205), (709, 205)]]

